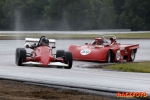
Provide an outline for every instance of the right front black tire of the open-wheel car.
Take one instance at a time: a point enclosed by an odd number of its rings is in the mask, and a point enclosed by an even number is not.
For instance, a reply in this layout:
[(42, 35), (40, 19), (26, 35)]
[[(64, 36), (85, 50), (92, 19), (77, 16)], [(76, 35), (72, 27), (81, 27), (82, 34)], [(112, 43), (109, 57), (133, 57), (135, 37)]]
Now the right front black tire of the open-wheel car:
[(72, 53), (71, 52), (65, 52), (65, 64), (68, 64), (68, 67), (64, 67), (65, 69), (71, 69), (72, 68)]

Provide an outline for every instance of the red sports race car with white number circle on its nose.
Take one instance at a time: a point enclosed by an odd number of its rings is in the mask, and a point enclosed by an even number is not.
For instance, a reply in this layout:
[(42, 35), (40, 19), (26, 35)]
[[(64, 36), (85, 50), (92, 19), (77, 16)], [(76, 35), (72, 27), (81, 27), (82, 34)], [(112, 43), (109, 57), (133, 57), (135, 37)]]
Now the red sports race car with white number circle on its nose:
[[(109, 40), (108, 40), (109, 39)], [(103, 62), (134, 61), (139, 44), (120, 44), (114, 35), (99, 35), (95, 40), (85, 45), (70, 45), (75, 60), (90, 60)]]

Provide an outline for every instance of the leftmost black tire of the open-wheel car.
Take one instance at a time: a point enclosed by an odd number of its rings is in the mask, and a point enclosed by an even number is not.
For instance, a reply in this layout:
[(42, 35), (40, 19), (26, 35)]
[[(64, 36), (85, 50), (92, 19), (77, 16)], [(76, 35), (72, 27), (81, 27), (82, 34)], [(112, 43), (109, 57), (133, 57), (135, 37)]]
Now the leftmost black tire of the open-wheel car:
[(16, 49), (15, 62), (18, 66), (22, 66), (22, 63), (26, 62), (26, 50), (24, 48)]

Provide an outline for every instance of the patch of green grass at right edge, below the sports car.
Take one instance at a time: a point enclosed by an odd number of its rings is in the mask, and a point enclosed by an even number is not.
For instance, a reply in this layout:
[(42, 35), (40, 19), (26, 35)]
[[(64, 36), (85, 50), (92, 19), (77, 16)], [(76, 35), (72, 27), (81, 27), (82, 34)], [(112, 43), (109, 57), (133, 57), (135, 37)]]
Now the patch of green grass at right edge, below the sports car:
[(150, 73), (150, 61), (119, 63), (119, 64), (117, 63), (117, 64), (110, 65), (105, 68), (118, 70), (118, 71), (125, 71), (125, 72)]

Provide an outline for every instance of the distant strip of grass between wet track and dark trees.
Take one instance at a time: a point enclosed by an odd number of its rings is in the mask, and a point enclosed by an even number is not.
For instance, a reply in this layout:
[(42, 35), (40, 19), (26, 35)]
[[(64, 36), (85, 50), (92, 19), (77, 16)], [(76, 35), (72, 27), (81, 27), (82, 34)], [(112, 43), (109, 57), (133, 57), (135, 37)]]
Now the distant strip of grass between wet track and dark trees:
[[(39, 38), (42, 35), (47, 36), (48, 38), (54, 39), (94, 39), (98, 34), (36, 34), (36, 33), (17, 33), (17, 34), (0, 34), (0, 40), (5, 39), (21, 39), (24, 40), (26, 37), (30, 38)], [(150, 39), (150, 33), (130, 33), (130, 34), (114, 34), (117, 39)]]

